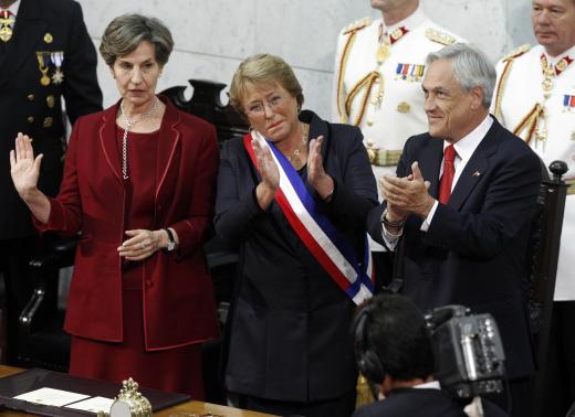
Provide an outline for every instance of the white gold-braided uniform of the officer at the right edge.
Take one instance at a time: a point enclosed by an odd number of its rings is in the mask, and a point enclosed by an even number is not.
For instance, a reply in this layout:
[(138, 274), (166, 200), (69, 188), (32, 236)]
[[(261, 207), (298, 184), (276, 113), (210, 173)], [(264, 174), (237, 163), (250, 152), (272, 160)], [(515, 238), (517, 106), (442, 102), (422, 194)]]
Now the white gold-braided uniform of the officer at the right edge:
[[(542, 55), (544, 58), (542, 58)], [(569, 165), (561, 237), (555, 300), (575, 300), (575, 45), (552, 57), (541, 45), (524, 45), (498, 63), (492, 110), (501, 124), (523, 140), (548, 167), (554, 160)], [(542, 64), (543, 62), (543, 64)], [(544, 87), (544, 63), (547, 82)], [(547, 93), (547, 97), (545, 94)]]

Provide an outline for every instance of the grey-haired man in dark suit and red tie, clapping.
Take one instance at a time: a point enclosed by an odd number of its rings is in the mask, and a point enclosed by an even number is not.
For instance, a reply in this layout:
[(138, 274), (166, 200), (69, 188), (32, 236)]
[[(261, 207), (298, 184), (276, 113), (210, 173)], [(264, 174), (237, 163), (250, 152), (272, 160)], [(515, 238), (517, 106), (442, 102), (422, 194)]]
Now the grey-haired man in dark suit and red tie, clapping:
[[(379, 179), (385, 202), (368, 227), (391, 249), (402, 236), (401, 292), (421, 310), (458, 303), (495, 317), (513, 415), (527, 416), (534, 364), (525, 252), (541, 169), (489, 115), (494, 81), (488, 58), (470, 46), (429, 54), (422, 84), (429, 132), (406, 142), (397, 178)], [(506, 406), (504, 396), (500, 404)]]

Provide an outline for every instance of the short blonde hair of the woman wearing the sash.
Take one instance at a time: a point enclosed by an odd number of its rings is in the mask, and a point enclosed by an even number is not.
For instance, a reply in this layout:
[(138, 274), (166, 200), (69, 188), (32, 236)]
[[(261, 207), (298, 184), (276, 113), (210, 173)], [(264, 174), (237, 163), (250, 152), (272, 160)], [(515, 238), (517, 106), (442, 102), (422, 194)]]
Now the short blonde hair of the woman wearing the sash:
[(279, 84), (285, 88), (297, 105), (303, 105), (303, 93), (293, 70), (281, 57), (271, 54), (257, 54), (245, 58), (231, 79), (230, 103), (241, 114), (244, 113), (243, 98), (248, 86), (270, 86)]

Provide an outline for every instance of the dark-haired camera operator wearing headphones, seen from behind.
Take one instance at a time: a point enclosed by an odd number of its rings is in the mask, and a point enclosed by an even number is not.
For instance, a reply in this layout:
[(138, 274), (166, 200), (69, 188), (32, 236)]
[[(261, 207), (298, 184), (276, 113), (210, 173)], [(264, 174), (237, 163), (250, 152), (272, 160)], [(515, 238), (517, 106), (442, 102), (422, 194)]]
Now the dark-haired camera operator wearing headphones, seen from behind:
[[(358, 408), (354, 417), (467, 417), (466, 405), (433, 379), (431, 340), (417, 307), (398, 295), (367, 301), (354, 321), (359, 372), (385, 398)], [(508, 416), (482, 400), (485, 417)]]

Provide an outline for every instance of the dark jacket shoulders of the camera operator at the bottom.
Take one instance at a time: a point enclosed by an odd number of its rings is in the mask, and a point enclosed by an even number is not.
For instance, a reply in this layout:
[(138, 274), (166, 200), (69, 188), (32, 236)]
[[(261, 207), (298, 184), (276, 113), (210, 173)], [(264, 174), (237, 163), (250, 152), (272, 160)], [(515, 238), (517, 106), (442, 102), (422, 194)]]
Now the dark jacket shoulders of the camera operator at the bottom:
[[(508, 416), (494, 404), (482, 403), (485, 417)], [(397, 388), (385, 399), (358, 408), (354, 417), (467, 417), (463, 407), (439, 389)]]

